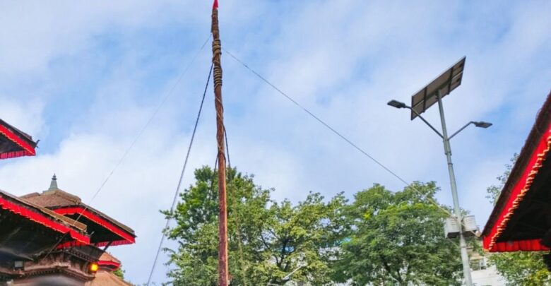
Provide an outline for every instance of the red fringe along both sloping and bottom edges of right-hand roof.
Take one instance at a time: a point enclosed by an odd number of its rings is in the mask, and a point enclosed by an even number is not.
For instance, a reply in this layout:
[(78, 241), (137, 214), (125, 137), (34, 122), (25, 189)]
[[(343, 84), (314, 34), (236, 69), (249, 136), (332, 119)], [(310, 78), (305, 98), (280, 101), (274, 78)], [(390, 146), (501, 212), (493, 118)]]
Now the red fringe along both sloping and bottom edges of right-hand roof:
[(514, 213), (516, 208), (519, 208), (519, 204), (526, 196), (526, 192), (532, 186), (532, 183), (535, 179), (535, 175), (538, 174), (540, 167), (543, 165), (543, 160), (551, 148), (551, 125), (547, 126), (547, 132), (545, 132), (538, 143), (538, 147), (534, 150), (534, 153), (531, 155), (526, 169), (517, 181), (516, 185), (511, 191), (509, 200), (505, 204), (505, 207), (502, 210), (502, 213), (499, 215), (499, 218), (492, 226), (490, 234), (488, 234), (483, 239), (483, 246), (487, 251), (490, 252), (501, 252), (501, 251), (540, 251), (548, 250), (547, 247), (541, 245), (541, 239), (531, 239), (525, 241), (517, 242), (497, 242), (497, 239), (505, 230), (507, 222), (511, 219), (511, 216)]

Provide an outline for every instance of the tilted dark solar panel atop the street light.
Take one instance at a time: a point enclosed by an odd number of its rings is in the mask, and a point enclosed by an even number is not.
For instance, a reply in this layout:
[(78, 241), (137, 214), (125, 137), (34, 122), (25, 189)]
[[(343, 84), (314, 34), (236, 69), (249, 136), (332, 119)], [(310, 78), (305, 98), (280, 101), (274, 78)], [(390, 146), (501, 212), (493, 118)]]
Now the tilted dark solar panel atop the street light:
[[(429, 107), (438, 102), (438, 93), (441, 92), (442, 97), (449, 95), (451, 90), (456, 89), (461, 85), (463, 78), (463, 68), (465, 67), (465, 59), (463, 56), (456, 64), (444, 71), (434, 81), (429, 83), (411, 97), (411, 120), (415, 119), (418, 114), (422, 114)], [(414, 112), (415, 110), (415, 112)]]

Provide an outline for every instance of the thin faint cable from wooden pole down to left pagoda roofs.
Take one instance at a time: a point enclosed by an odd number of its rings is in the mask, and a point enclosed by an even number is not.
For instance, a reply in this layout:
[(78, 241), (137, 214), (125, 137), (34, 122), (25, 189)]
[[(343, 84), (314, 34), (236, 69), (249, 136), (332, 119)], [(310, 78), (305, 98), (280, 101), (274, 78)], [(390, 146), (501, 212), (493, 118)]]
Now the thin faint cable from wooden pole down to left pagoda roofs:
[[(100, 193), (100, 191), (102, 191), (103, 187), (105, 186), (105, 184), (107, 184), (107, 181), (109, 181), (109, 179), (111, 179), (112, 175), (114, 174), (114, 172), (119, 168), (119, 166), (121, 165), (122, 161), (124, 161), (124, 159), (126, 158), (126, 156), (129, 154), (130, 150), (134, 147), (134, 145), (136, 145), (136, 142), (138, 141), (139, 138), (141, 138), (142, 134), (144, 131), (146, 131), (146, 129), (148, 128), (149, 124), (151, 124), (151, 121), (153, 121), (153, 119), (155, 118), (155, 116), (158, 114), (158, 112), (160, 111), (161, 107), (163, 105), (165, 105), (165, 102), (168, 100), (168, 98), (170, 97), (170, 95), (172, 95), (172, 92), (174, 91), (174, 89), (176, 88), (176, 86), (180, 83), (180, 81), (182, 81), (182, 78), (184, 77), (184, 75), (187, 73), (187, 71), (189, 71), (189, 68), (191, 67), (191, 65), (195, 62), (195, 60), (197, 59), (197, 57), (199, 56), (199, 54), (201, 53), (201, 51), (203, 51), (203, 48), (205, 47), (206, 43), (208, 42), (208, 40), (211, 39), (211, 34), (208, 34), (208, 37), (207, 39), (205, 40), (205, 42), (203, 42), (203, 45), (201, 45), (201, 48), (199, 49), (199, 51), (196, 52), (196, 54), (194, 55), (194, 57), (191, 59), (191, 61), (189, 62), (189, 64), (187, 64), (187, 66), (184, 68), (184, 71), (182, 71), (182, 73), (180, 73), (180, 75), (178, 76), (177, 78), (177, 81), (174, 83), (174, 85), (172, 85), (172, 88), (170, 88), (170, 90), (165, 94), (165, 96), (162, 98), (161, 102), (159, 103), (159, 105), (157, 106), (157, 108), (155, 109), (155, 111), (153, 112), (153, 114), (151, 114), (151, 117), (148, 119), (148, 121), (146, 122), (146, 124), (142, 127), (142, 129), (138, 132), (138, 135), (136, 136), (136, 138), (134, 138), (134, 141), (132, 141), (129, 145), (128, 148), (126, 148), (126, 151), (124, 151), (123, 155), (121, 156), (121, 158), (119, 159), (119, 161), (117, 162), (117, 164), (114, 165), (113, 169), (111, 169), (111, 172), (109, 172), (109, 174), (107, 175), (107, 177), (105, 178), (105, 180), (102, 182), (102, 184), (100, 185), (99, 188), (97, 188), (97, 191), (95, 191), (94, 195), (92, 196), (92, 198), (90, 198), (90, 201), (88, 201), (88, 205), (85, 205), (83, 210), (81, 210), (81, 213), (78, 214), (78, 217), (76, 218), (76, 220), (74, 220), (73, 224), (71, 225), (71, 227), (74, 227), (76, 222), (78, 222), (78, 220), (80, 220), (82, 218), (82, 215), (83, 213), (89, 208), (89, 206), (92, 204), (92, 202), (94, 201), (94, 199), (97, 197), (97, 195)], [(65, 238), (66, 234), (64, 234), (60, 239), (59, 239), (59, 242), (57, 242), (57, 244), (54, 244), (54, 247), (52, 247), (52, 249), (50, 249), (47, 253), (47, 255), (49, 255), (50, 253), (52, 253), (52, 251), (54, 251), (54, 249), (61, 243), (61, 241)]]

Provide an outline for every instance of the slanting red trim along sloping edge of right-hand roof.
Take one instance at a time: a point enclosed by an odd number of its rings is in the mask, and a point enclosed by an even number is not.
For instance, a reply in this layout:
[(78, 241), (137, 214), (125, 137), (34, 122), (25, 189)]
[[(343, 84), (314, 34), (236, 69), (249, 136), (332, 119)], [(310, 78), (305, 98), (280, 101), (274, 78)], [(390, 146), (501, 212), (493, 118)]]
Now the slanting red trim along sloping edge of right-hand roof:
[[(523, 170), (521, 178), (519, 179), (519, 181), (517, 181), (516, 185), (512, 189), (511, 195), (509, 196), (509, 199), (507, 200), (502, 212), (499, 214), (496, 223), (492, 226), (490, 233), (484, 237), (484, 247), (488, 251), (500, 251), (499, 248), (508, 249), (507, 246), (497, 247), (497, 239), (499, 238), (499, 235), (501, 235), (502, 232), (505, 230), (507, 222), (509, 222), (509, 220), (511, 219), (514, 210), (516, 210), (516, 208), (519, 208), (519, 203), (521, 203), (524, 196), (526, 195), (526, 192), (530, 189), (530, 186), (532, 186), (535, 175), (538, 174), (540, 167), (542, 167), (543, 160), (545, 160), (545, 156), (549, 152), (550, 148), (551, 124), (547, 126), (547, 131), (545, 131), (545, 133), (543, 133), (543, 136), (541, 136), (538, 147), (536, 147), (533, 151), (530, 160), (528, 161), (528, 165), (526, 165), (526, 169)], [(514, 244), (516, 242), (512, 243)], [(538, 244), (540, 244), (540, 242), (538, 242)], [(534, 247), (538, 248), (543, 246)]]

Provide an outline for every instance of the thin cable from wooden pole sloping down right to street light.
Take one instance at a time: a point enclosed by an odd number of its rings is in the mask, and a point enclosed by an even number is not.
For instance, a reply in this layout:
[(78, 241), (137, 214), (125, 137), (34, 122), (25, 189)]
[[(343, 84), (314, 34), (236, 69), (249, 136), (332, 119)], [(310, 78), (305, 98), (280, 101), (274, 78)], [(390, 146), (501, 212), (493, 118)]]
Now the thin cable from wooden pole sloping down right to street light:
[[(293, 104), (295, 104), (297, 107), (299, 107), (300, 109), (302, 109), (304, 112), (306, 112), (307, 114), (309, 114), (312, 118), (316, 119), (316, 121), (318, 121), (319, 123), (321, 123), (322, 125), (326, 126), (327, 129), (331, 130), (333, 133), (335, 133), (338, 137), (340, 137), (341, 139), (343, 139), (344, 141), (346, 141), (346, 143), (348, 143), (349, 145), (351, 145), (353, 148), (355, 148), (356, 150), (360, 151), (360, 153), (362, 153), (363, 155), (365, 155), (366, 157), (368, 157), (369, 159), (371, 159), (373, 162), (375, 162), (377, 165), (379, 165), (379, 167), (383, 168), (386, 170), (386, 172), (389, 172), (390, 174), (393, 175), (393, 177), (395, 177), (396, 179), (398, 179), (399, 181), (401, 181), (403, 184), (405, 184), (405, 186), (409, 186), (411, 189), (413, 189), (413, 191), (419, 193), (421, 196), (425, 197), (428, 201), (430, 201), (432, 204), (436, 205), (437, 208), (439, 208), (440, 210), (444, 211), (444, 213), (446, 213), (446, 215), (449, 215), (450, 217), (454, 218), (454, 215), (452, 215), (448, 210), (446, 210), (445, 208), (442, 208), (441, 205), (439, 205), (439, 203), (437, 203), (436, 201), (434, 201), (434, 199), (432, 198), (429, 198), (428, 196), (426, 196), (425, 194), (423, 194), (421, 191), (419, 191), (417, 188), (415, 188), (415, 186), (413, 184), (410, 184), (408, 183), (408, 181), (405, 181), (405, 179), (403, 179), (402, 177), (400, 177), (398, 174), (396, 174), (395, 172), (393, 172), (391, 169), (389, 169), (389, 167), (386, 167), (385, 165), (383, 165), (383, 163), (379, 162), (379, 160), (375, 159), (374, 157), (372, 157), (372, 155), (369, 155), (365, 150), (363, 150), (362, 148), (360, 148), (358, 145), (356, 145), (355, 143), (353, 143), (352, 141), (350, 141), (350, 139), (346, 138), (345, 136), (343, 136), (343, 134), (341, 134), (340, 132), (336, 131), (336, 129), (334, 129), (333, 127), (331, 127), (329, 124), (327, 124), (325, 121), (321, 120), (319, 117), (317, 117), (315, 114), (313, 114), (312, 112), (310, 112), (306, 107), (304, 107), (303, 105), (301, 105), (299, 102), (297, 102), (296, 100), (294, 100), (292, 97), (290, 97), (289, 95), (287, 95), (286, 93), (284, 93), (282, 90), (280, 90), (278, 87), (276, 87), (275, 85), (273, 85), (270, 81), (268, 81), (266, 78), (264, 78), (263, 76), (261, 76), (260, 73), (257, 73), (253, 68), (250, 68), (249, 66), (247, 66), (247, 64), (245, 64), (242, 60), (238, 59), (237, 56), (234, 56), (231, 52), (228, 52), (227, 49), (224, 49), (222, 48), (223, 51), (228, 54), (229, 56), (231, 56), (233, 59), (235, 59), (235, 61), (237, 61), (239, 64), (242, 64), (242, 66), (244, 66), (245, 68), (247, 68), (249, 71), (251, 71), (251, 73), (254, 73), (254, 75), (256, 75), (258, 78), (261, 79), (261, 81), (263, 81), (264, 83), (270, 85), (274, 90), (276, 90), (278, 93), (280, 93), (280, 95), (283, 95), (285, 98), (287, 98), (290, 102), (292, 102)], [(458, 220), (456, 218), (456, 220)], [(463, 222), (459, 222), (461, 225), (465, 226), (463, 224)], [(472, 232), (472, 231), (471, 231)], [(474, 232), (473, 232), (474, 233)]]

